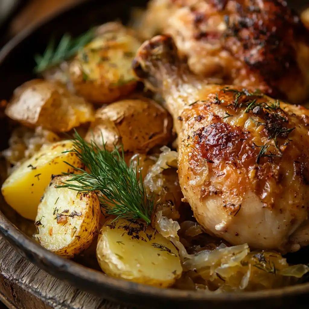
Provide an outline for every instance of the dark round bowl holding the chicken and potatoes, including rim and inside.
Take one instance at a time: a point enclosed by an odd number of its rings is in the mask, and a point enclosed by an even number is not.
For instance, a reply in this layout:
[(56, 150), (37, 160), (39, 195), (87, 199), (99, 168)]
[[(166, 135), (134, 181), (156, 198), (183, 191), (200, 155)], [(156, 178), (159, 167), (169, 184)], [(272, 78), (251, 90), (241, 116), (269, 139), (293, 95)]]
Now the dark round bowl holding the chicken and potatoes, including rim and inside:
[[(108, 3), (106, 1), (105, 3)], [(34, 78), (33, 55), (43, 52), (52, 34), (60, 37), (69, 31), (74, 35), (106, 21), (129, 18), (132, 6), (144, 6), (142, 0), (84, 1), (66, 9), (35, 28), (25, 29), (0, 51), (0, 98), (9, 99), (21, 83)], [(303, 5), (303, 1), (299, 1)], [(295, 2), (293, 3), (295, 5)], [(6, 147), (9, 129), (1, 117), (0, 148)], [(2, 197), (1, 197), (2, 198)], [(200, 291), (160, 289), (107, 277), (74, 261), (53, 254), (23, 233), (27, 222), (0, 198), (0, 232), (26, 259), (53, 276), (70, 282), (81, 290), (127, 305), (177, 308), (288, 308), (309, 301), (309, 283), (282, 289), (227, 294), (205, 294)], [(18, 226), (19, 228), (17, 228)], [(33, 226), (33, 223), (32, 223)], [(307, 253), (308, 254), (308, 253)], [(306, 307), (306, 306), (305, 306)], [(305, 308), (304, 307), (304, 308)]]

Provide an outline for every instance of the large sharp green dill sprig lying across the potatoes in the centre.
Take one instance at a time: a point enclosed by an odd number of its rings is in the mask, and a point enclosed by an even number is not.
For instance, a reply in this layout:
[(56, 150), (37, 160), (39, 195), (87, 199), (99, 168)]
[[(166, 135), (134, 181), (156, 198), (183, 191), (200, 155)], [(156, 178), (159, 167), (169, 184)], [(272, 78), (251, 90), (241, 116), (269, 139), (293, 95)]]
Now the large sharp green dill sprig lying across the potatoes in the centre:
[[(102, 136), (103, 141), (103, 136)], [(73, 139), (73, 150), (85, 168), (77, 169), (80, 174), (73, 175), (58, 188), (70, 188), (83, 193), (99, 192), (98, 197), (101, 207), (106, 214), (116, 215), (117, 218), (141, 218), (148, 224), (155, 204), (155, 197), (147, 196), (142, 175), (138, 178), (138, 168), (133, 162), (128, 166), (125, 162), (123, 149), (109, 152), (97, 143), (87, 143), (76, 131)], [(65, 175), (71, 175), (63, 173)], [(79, 184), (73, 184), (77, 181)]]

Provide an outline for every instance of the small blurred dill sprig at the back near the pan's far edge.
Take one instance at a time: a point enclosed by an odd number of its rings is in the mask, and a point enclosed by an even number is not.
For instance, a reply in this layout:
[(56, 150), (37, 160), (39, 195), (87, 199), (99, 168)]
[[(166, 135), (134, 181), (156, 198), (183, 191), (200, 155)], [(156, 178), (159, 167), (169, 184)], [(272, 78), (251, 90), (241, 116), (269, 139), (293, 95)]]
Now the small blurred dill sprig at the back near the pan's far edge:
[(73, 39), (70, 34), (66, 33), (62, 36), (59, 44), (55, 47), (54, 39), (49, 41), (43, 55), (35, 55), (36, 67), (35, 73), (43, 72), (61, 61), (68, 60), (73, 57), (80, 48), (84, 47), (95, 37), (95, 30), (90, 29), (77, 38)]

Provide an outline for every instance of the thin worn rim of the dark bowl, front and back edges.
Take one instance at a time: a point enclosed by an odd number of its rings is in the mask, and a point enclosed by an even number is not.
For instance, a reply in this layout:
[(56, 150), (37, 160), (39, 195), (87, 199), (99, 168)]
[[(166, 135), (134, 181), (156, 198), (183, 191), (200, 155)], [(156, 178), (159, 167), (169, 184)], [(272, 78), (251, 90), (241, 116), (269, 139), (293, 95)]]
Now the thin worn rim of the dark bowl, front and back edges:
[[(23, 40), (27, 40), (37, 29), (42, 27), (44, 24), (56, 19), (60, 15), (78, 7), (91, 2), (90, 0), (83, 0), (79, 2), (70, 3), (60, 10), (48, 15), (47, 17), (41, 19), (38, 23), (30, 25), (19, 32), (11, 40), (9, 40), (3, 47), (0, 49), (0, 65), (6, 60), (6, 57), (14, 50)], [(58, 256), (53, 252), (48, 251), (47, 249), (40, 246), (34, 240), (25, 235), (20, 231), (6, 216), (0, 211), (0, 233), (13, 247), (18, 248), (21, 252), (25, 253), (26, 258), (30, 260), (27, 256), (27, 252), (31, 252), (31, 256), (36, 259), (44, 260), (44, 264), (53, 265), (57, 268), (61, 268), (66, 273), (71, 273), (75, 277), (86, 282), (92, 282), (98, 284), (101, 287), (106, 287), (109, 289), (117, 290), (119, 293), (125, 294), (139, 294), (144, 297), (149, 295), (160, 298), (162, 301), (216, 301), (218, 303), (225, 302), (240, 302), (240, 301), (252, 301), (252, 300), (263, 300), (269, 298), (282, 298), (297, 296), (305, 293), (309, 293), (309, 283), (296, 284), (292, 286), (286, 286), (282, 288), (275, 288), (270, 290), (261, 290), (256, 292), (227, 292), (222, 294), (213, 294), (205, 293), (205, 291), (193, 291), (193, 290), (177, 290), (171, 288), (158, 288), (154, 286), (148, 286), (141, 283), (135, 283), (131, 281), (126, 281), (123, 279), (117, 279), (114, 277), (109, 277), (104, 275), (99, 271), (90, 269), (86, 266), (80, 265), (73, 260), (68, 260), (62, 256)], [(17, 250), (17, 251), (19, 251)], [(35, 264), (37, 267), (43, 269), (42, 263), (37, 262), (37, 260), (30, 260), (31, 263)], [(44, 269), (49, 272), (48, 268)], [(57, 277), (56, 275), (52, 274)], [(63, 280), (64, 277), (59, 274), (59, 279)], [(71, 281), (69, 281), (70, 284)], [(80, 288), (80, 285), (78, 285)], [(81, 288), (80, 288), (81, 289)], [(82, 290), (82, 289), (81, 289)], [(87, 290), (87, 289), (85, 289)], [(98, 295), (98, 293), (93, 292), (93, 294)], [(101, 294), (102, 297), (102, 294)], [(105, 297), (105, 296), (104, 296)], [(121, 301), (121, 299), (118, 299)]]

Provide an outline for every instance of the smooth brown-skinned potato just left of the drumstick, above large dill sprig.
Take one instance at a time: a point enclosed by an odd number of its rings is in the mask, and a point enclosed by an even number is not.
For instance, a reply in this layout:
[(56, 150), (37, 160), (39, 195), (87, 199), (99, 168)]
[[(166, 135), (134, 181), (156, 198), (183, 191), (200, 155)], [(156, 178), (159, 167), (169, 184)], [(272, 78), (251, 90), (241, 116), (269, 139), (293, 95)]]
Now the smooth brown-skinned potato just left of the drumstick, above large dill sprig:
[(85, 137), (108, 150), (123, 144), (125, 152), (146, 153), (156, 145), (164, 145), (171, 138), (172, 119), (158, 103), (150, 99), (121, 100), (99, 108), (95, 121)]

